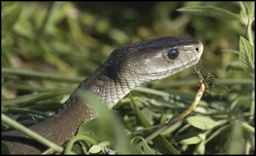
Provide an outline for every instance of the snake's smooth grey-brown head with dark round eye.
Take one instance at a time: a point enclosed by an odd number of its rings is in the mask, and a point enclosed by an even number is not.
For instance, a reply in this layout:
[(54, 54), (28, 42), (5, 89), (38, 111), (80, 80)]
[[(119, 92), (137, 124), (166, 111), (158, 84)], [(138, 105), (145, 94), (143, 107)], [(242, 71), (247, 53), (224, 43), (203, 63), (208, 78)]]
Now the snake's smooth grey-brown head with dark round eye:
[(160, 37), (132, 44), (130, 49), (133, 52), (126, 56), (121, 66), (145, 83), (195, 65), (200, 60), (203, 45), (191, 38)]

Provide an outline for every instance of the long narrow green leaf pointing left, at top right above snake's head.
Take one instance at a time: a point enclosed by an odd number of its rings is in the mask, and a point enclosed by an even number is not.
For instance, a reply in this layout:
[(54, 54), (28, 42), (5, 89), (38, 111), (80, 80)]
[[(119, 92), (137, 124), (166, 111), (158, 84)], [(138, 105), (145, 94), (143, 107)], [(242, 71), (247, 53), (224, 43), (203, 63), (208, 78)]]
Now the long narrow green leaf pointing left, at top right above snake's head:
[(231, 13), (228, 10), (216, 8), (216, 7), (184, 7), (177, 9), (177, 11), (181, 11), (184, 13), (195, 14), (195, 15), (203, 15), (214, 18), (224, 18), (229, 20), (240, 20), (240, 16)]

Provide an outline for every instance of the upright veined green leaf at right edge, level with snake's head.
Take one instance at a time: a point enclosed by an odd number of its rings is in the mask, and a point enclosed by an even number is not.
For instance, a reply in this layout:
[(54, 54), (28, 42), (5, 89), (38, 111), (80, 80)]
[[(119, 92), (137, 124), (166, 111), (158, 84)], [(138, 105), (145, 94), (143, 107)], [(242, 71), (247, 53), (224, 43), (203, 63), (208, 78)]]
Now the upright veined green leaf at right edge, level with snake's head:
[(240, 36), (240, 62), (245, 71), (254, 73), (254, 47), (245, 38)]

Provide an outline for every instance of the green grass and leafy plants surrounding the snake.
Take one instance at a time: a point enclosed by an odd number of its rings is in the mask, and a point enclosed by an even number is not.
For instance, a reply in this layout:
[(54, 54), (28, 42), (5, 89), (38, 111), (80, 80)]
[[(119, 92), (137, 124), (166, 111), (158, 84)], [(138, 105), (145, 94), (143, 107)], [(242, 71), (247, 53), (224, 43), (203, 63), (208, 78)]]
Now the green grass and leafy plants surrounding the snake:
[(187, 117), (145, 142), (194, 101), (194, 68), (137, 87), (44, 153), (255, 153), (255, 2), (1, 2), (1, 9), (2, 131), (46, 120), (117, 47), (191, 37), (204, 45), (196, 67), (209, 87)]

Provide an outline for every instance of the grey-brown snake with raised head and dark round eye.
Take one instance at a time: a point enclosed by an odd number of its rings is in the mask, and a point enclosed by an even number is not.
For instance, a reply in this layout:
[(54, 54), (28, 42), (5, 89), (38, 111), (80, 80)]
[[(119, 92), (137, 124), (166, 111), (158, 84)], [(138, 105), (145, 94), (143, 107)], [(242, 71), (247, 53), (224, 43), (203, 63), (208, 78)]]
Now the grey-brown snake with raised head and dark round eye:
[[(63, 145), (75, 136), (79, 125), (97, 117), (90, 103), (78, 96), (79, 92), (96, 94), (95, 98), (103, 100), (111, 109), (135, 87), (196, 65), (202, 52), (200, 40), (178, 37), (159, 37), (119, 47), (75, 89), (54, 115), (29, 129)], [(47, 150), (19, 131), (2, 132), (1, 140), (10, 154), (40, 154)]]

